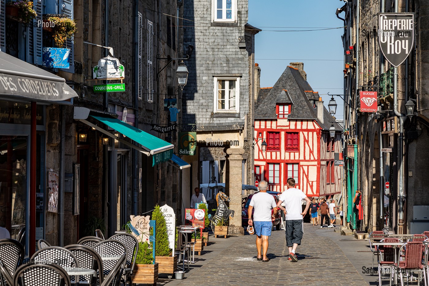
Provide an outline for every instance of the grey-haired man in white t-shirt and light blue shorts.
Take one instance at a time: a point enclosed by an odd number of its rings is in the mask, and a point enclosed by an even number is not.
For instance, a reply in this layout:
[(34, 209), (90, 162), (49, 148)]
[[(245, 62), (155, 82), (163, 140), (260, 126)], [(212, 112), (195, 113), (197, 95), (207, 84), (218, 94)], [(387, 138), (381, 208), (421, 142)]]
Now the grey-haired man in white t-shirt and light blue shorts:
[[(258, 189), (260, 192), (255, 193), (252, 196), (249, 204), (248, 216), (249, 225), (253, 225), (256, 233), (256, 248), (258, 250), (257, 260), (262, 262), (268, 262), (267, 251), (268, 251), (268, 237), (271, 236), (272, 230), (272, 218), (277, 216), (277, 206), (273, 195), (267, 193), (268, 183), (261, 181)], [(252, 219), (252, 211), (255, 209)], [(274, 213), (271, 214), (271, 209)], [(262, 247), (262, 256), (261, 256)]]

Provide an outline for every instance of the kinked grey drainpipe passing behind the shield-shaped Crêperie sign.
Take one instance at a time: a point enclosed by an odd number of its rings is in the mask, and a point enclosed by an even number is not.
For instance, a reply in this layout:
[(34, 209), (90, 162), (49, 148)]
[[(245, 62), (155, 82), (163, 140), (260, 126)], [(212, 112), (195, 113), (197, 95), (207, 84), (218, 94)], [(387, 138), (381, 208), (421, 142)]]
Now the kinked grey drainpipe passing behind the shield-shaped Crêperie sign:
[[(395, 1), (395, 12), (398, 13), (398, 1)], [(399, 112), (398, 103), (398, 68), (393, 67), (393, 112), (399, 117), (398, 165), (399, 165), (399, 199), (398, 199), (398, 234), (404, 233), (404, 124), (407, 116)]]

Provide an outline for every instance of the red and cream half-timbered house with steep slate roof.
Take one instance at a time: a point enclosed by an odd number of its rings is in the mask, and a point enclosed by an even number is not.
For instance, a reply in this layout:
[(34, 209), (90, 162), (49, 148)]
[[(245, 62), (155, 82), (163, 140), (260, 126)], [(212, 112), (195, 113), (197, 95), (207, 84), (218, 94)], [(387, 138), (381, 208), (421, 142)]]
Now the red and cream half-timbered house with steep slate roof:
[[(341, 192), (341, 127), (306, 79), (302, 63), (291, 63), (272, 88), (261, 88), (255, 109), (254, 176), (283, 192), (287, 179), (309, 197)], [(335, 137), (329, 134), (334, 125)], [(267, 143), (266, 151), (262, 143)]]

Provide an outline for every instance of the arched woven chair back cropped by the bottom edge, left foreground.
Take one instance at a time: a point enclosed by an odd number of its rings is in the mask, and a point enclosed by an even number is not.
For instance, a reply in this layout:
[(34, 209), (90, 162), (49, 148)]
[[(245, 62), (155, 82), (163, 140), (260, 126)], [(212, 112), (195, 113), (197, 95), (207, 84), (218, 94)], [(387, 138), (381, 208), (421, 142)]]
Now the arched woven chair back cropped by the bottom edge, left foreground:
[(56, 264), (24, 264), (13, 277), (12, 285), (71, 286), (67, 272)]

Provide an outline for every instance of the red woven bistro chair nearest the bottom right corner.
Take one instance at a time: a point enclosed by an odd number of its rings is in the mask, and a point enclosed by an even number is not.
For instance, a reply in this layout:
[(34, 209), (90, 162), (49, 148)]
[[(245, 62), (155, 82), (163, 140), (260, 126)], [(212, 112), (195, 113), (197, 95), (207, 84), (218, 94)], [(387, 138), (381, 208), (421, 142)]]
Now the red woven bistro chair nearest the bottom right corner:
[[(423, 272), (424, 285), (427, 286), (427, 257), (422, 259), (422, 253), (427, 253), (427, 246), (421, 241), (410, 241), (404, 243), (399, 249), (401, 253), (402, 249), (405, 249), (405, 257), (403, 261), (395, 262), (393, 267), (396, 272), (399, 272), (401, 279), (401, 285), (404, 286), (403, 273), (418, 272), (419, 273), (419, 284), (420, 284), (420, 273)], [(392, 274), (393, 275), (393, 274)]]

